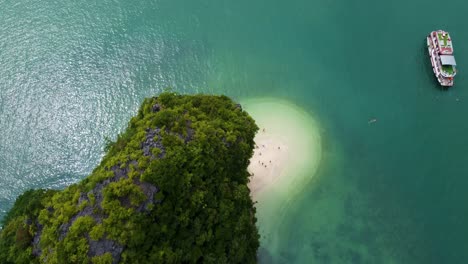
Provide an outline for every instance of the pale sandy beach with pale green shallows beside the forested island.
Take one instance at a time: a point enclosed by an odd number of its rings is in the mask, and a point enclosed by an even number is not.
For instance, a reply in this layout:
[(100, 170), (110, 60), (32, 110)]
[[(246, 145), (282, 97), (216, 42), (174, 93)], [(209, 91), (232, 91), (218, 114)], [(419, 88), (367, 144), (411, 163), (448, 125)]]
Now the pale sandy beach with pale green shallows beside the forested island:
[(248, 170), (255, 200), (268, 193), (289, 196), (314, 176), (321, 159), (320, 131), (316, 121), (296, 105), (273, 98), (242, 101), (259, 131)]

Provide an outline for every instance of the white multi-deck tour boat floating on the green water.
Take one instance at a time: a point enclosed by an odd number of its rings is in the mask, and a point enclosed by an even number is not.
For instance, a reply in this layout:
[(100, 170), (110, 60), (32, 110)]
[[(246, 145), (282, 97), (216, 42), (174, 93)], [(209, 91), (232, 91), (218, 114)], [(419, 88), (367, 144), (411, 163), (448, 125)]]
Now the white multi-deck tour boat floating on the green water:
[(445, 87), (453, 86), (457, 63), (450, 34), (443, 30), (432, 31), (427, 36), (427, 49), (437, 81)]

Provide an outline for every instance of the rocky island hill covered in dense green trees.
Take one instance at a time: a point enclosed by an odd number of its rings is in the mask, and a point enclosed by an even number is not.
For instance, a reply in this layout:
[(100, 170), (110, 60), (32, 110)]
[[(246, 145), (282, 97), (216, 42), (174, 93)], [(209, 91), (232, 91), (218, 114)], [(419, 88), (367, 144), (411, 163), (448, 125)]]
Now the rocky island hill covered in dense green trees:
[(0, 263), (255, 263), (257, 130), (225, 96), (146, 99), (89, 177), (17, 199)]

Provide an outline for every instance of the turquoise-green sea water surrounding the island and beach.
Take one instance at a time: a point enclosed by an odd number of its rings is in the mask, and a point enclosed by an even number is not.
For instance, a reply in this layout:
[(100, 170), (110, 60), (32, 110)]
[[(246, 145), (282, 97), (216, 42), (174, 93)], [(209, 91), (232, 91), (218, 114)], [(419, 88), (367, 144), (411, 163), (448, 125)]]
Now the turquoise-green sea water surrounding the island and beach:
[[(263, 263), (466, 263), (468, 3), (440, 5), (0, 1), (0, 217), (86, 177), (165, 87), (267, 95), (317, 117), (324, 152)], [(459, 64), (448, 91), (424, 45), (439, 28)]]

